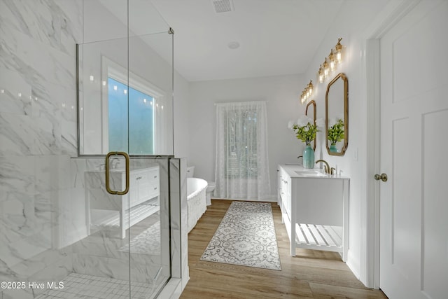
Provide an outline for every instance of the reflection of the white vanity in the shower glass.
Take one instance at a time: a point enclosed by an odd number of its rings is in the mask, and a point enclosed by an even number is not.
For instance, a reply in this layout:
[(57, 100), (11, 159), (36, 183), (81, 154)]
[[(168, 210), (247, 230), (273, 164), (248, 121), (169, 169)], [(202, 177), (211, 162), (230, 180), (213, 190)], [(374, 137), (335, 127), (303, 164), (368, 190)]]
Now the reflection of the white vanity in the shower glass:
[[(124, 238), (127, 228), (160, 210), (158, 166), (130, 170), (130, 188), (125, 195), (107, 193), (104, 176), (104, 170), (85, 173), (88, 235), (91, 225), (118, 226), (120, 236)], [(109, 182), (112, 190), (125, 190), (125, 171), (111, 169)], [(118, 211), (118, 216), (110, 211)]]

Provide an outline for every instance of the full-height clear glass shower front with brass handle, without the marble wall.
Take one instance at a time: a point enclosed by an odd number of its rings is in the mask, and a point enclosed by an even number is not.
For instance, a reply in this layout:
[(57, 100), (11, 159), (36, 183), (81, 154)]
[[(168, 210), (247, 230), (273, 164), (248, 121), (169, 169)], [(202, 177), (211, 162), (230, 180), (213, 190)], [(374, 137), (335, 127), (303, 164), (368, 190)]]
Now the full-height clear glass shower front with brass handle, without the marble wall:
[(151, 1), (89, 0), (83, 12), (78, 151), (95, 241), (75, 272), (153, 298), (171, 277), (173, 35)]

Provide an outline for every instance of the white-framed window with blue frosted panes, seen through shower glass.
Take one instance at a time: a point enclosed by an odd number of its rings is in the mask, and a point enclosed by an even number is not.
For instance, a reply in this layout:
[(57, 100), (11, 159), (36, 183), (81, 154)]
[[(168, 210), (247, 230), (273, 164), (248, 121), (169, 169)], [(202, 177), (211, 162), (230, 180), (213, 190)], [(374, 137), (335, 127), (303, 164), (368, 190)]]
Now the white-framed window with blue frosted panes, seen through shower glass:
[(165, 92), (106, 57), (102, 62), (103, 153), (154, 155), (162, 144)]

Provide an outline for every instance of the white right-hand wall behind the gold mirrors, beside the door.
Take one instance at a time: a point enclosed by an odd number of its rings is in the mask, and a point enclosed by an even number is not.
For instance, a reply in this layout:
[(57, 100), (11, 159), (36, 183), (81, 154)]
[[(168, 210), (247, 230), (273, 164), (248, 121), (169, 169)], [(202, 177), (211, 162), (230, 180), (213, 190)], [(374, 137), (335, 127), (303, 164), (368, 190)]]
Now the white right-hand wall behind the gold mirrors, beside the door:
[[(345, 1), (333, 27), (325, 36), (321, 47), (305, 72), (305, 78), (316, 78), (319, 65), (337, 39), (346, 47), (344, 62), (335, 74), (322, 84), (315, 85), (317, 118), (325, 118), (325, 92), (328, 83), (339, 72), (346, 74), (349, 80), (349, 146), (344, 156), (328, 155), (325, 148), (325, 137), (318, 136), (316, 157), (328, 161), (331, 167), (343, 170), (343, 174), (351, 177), (350, 181), (350, 244), (347, 265), (365, 284), (366, 279), (366, 243), (365, 243), (365, 205), (366, 205), (366, 120), (367, 103), (365, 101), (365, 38), (363, 34), (372, 25), (374, 17), (379, 14), (388, 1)], [(356, 14), (352, 12), (355, 11)], [(346, 15), (351, 15), (351, 18)], [(356, 15), (356, 18), (353, 18)], [(314, 80), (315, 81), (315, 80)], [(321, 149), (323, 148), (323, 151)]]

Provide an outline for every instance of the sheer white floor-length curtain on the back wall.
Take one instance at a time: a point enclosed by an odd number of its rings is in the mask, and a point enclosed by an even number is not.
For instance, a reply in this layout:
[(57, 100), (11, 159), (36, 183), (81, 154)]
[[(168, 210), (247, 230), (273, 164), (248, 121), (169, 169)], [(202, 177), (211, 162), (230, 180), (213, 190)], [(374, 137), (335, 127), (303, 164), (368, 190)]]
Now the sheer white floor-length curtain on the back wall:
[(216, 104), (215, 169), (216, 197), (269, 199), (265, 102)]

